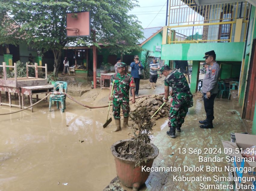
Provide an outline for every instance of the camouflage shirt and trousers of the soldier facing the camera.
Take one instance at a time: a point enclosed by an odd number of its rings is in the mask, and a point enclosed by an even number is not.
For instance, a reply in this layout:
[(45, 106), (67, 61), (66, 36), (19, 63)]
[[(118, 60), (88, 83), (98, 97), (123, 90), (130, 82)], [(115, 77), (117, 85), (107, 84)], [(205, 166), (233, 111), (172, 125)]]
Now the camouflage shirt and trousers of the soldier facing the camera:
[(121, 75), (116, 73), (111, 79), (111, 86), (114, 81), (114, 93), (113, 93), (113, 112), (114, 119), (120, 119), (120, 108), (123, 110), (123, 117), (128, 117), (130, 112), (129, 105), (129, 90), (135, 88), (133, 77), (125, 73)]

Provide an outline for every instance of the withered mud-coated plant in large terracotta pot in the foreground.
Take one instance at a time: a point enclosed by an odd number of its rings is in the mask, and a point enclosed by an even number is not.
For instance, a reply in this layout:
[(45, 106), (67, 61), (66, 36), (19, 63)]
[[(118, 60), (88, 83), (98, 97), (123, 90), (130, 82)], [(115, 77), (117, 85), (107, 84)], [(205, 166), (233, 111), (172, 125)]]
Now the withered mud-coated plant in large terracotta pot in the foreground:
[(142, 171), (142, 166), (145, 166), (144, 169), (151, 168), (159, 150), (150, 143), (154, 122), (147, 115), (146, 107), (132, 112), (130, 118), (136, 124), (133, 125), (133, 137), (114, 143), (111, 152), (120, 182), (136, 191), (145, 183), (150, 173)]

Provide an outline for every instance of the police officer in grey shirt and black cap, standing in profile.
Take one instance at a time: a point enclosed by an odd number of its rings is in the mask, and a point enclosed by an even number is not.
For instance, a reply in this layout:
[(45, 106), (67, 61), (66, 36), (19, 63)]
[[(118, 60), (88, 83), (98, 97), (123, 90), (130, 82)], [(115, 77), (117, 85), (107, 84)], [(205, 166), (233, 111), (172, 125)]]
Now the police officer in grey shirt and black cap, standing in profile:
[(209, 65), (208, 70), (203, 80), (203, 94), (204, 94), (204, 110), (206, 112), (206, 119), (199, 121), (203, 129), (213, 128), (212, 121), (214, 119), (214, 98), (218, 93), (218, 79), (220, 77), (220, 66), (215, 61), (216, 54), (214, 50), (205, 52), (205, 63)]

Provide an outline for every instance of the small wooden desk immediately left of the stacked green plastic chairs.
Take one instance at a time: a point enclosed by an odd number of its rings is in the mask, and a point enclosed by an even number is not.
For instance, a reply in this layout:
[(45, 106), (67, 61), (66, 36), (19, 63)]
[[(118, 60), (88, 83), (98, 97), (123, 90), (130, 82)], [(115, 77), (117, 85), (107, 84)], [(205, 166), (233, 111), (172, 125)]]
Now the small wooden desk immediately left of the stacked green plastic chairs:
[[(54, 85), (37, 85), (37, 86), (27, 86), (27, 87), (21, 87), (21, 100), (22, 100), (22, 107), (26, 108), (24, 106), (24, 95), (28, 95), (30, 97), (30, 105), (33, 104), (32, 101), (32, 95), (36, 94), (36, 101), (38, 101), (38, 94), (45, 94), (47, 95), (49, 91), (53, 90)], [(45, 99), (47, 102), (47, 98)], [(33, 107), (30, 107), (31, 112), (33, 112)]]

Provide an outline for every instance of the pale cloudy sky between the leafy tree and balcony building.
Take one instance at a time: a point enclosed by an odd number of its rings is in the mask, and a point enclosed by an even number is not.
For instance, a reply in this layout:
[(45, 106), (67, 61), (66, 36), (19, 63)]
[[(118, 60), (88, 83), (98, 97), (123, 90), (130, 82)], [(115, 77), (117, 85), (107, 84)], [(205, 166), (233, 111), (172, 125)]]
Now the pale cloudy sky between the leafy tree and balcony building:
[(141, 22), (143, 28), (159, 27), (165, 25), (167, 0), (138, 1), (140, 7), (135, 7), (128, 14), (135, 14), (138, 17), (138, 20)]

